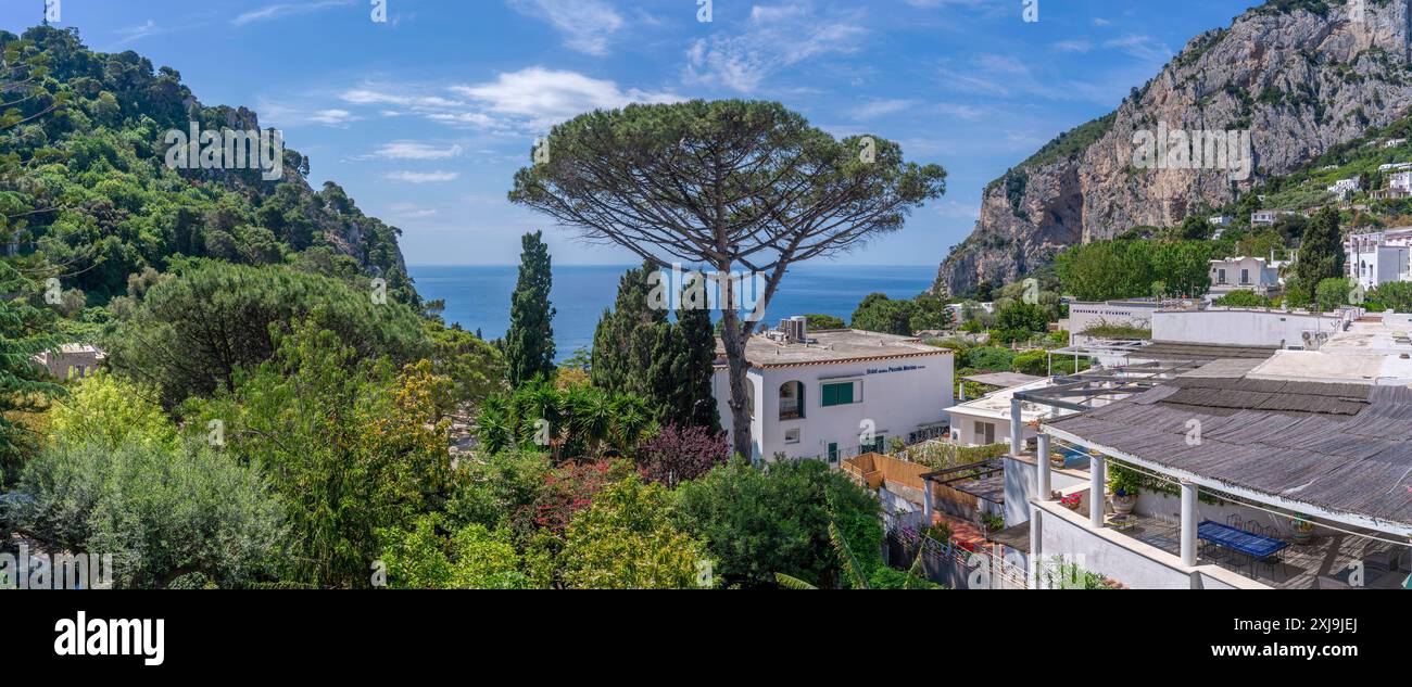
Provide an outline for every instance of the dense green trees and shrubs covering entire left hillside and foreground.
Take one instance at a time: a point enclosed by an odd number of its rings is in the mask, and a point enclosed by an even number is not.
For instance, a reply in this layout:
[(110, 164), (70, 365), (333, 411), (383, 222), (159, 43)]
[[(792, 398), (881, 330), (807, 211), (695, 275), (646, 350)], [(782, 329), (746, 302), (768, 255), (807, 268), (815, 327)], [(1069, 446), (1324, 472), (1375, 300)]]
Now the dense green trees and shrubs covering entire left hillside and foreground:
[[(926, 587), (840, 473), (729, 461), (710, 315), (645, 269), (561, 368), (538, 233), (481, 340), (292, 150), (164, 164), (164, 131), (254, 113), (76, 31), (0, 45), (0, 546), (112, 553), (119, 587)], [(51, 378), (62, 343), (106, 364)]]

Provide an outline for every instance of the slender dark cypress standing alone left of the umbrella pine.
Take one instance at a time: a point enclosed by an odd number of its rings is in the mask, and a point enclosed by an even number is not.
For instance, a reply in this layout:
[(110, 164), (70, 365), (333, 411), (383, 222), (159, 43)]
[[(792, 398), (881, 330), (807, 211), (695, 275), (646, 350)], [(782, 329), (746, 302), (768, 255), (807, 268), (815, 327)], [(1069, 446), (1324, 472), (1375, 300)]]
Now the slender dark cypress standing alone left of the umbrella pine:
[(549, 267), (549, 247), (542, 233), (525, 234), (520, 244), (520, 279), (510, 298), (510, 330), (505, 332), (507, 377), (518, 387), (535, 377), (554, 378), (554, 306), (549, 286), (554, 282)]

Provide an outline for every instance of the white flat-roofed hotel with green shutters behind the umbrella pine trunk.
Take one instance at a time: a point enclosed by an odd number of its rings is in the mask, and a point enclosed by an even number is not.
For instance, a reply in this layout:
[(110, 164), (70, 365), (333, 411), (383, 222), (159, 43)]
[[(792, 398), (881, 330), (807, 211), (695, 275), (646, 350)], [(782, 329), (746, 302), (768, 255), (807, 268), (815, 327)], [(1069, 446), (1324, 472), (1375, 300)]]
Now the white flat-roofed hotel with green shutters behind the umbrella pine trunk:
[[(950, 350), (874, 332), (806, 332), (802, 317), (781, 323), (791, 329), (751, 336), (746, 346), (753, 460), (782, 453), (837, 464), (894, 437), (943, 434), (955, 384)], [(730, 430), (723, 357), (712, 392)]]

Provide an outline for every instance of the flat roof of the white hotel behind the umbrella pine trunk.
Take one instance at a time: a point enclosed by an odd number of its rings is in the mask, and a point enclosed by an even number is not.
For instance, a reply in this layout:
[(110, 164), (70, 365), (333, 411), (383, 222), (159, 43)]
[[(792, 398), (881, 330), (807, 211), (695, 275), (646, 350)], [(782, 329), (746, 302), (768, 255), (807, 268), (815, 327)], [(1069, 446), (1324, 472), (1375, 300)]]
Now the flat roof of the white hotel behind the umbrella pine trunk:
[[(786, 343), (754, 334), (746, 343), (746, 360), (754, 367), (819, 365), (866, 360), (952, 355), (950, 348), (928, 346), (916, 337), (880, 334), (857, 329), (813, 330), (809, 343)], [(717, 358), (726, 350), (716, 340)]]

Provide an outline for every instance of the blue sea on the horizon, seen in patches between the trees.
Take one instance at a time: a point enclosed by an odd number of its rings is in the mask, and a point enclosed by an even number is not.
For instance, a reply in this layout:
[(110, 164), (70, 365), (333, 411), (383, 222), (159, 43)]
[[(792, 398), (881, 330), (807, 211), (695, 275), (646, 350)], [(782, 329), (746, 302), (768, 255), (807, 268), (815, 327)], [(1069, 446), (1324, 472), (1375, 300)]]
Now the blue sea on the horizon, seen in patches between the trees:
[[(593, 330), (604, 308), (613, 306), (618, 278), (633, 265), (554, 265), (549, 300), (558, 310), (554, 340), (559, 361), (579, 348), (592, 348)], [(408, 265), (424, 299), (445, 299), (448, 324), (476, 332), (487, 340), (510, 326), (510, 293), (518, 265)], [(912, 298), (936, 279), (936, 265), (792, 267), (765, 310), (765, 322), (792, 315), (833, 315), (849, 322), (863, 296), (881, 291), (888, 298)]]

